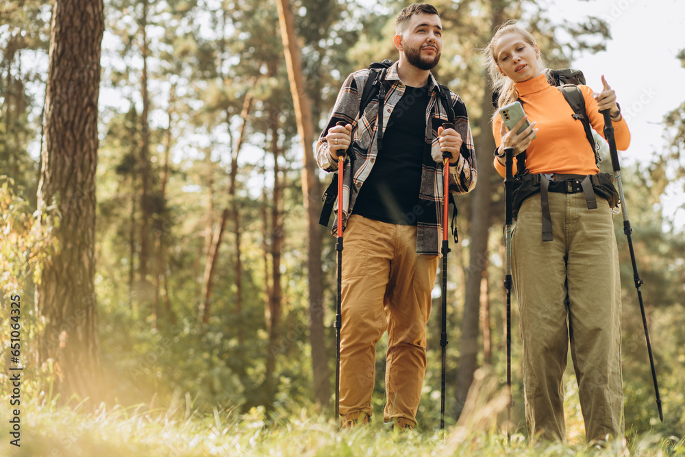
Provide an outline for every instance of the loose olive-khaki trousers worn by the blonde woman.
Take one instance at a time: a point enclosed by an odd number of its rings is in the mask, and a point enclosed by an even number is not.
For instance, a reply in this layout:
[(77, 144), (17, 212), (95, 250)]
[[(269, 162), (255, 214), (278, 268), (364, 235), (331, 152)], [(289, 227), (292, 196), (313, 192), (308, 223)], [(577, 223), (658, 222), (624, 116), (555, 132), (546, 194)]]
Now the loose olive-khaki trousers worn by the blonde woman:
[[(608, 203), (549, 193), (553, 240), (542, 241), (540, 194), (521, 205), (512, 240), (521, 312), (523, 393), (531, 436), (564, 440), (566, 354), (579, 386), (588, 441), (623, 437), (621, 283)], [(568, 302), (565, 302), (568, 294)]]

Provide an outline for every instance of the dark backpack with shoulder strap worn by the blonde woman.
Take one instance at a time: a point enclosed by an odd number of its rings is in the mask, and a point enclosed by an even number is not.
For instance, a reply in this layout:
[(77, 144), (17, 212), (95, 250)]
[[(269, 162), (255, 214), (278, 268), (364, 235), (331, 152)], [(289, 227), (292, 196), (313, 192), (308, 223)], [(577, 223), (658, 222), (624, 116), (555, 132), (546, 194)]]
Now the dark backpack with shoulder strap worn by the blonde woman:
[[(580, 70), (559, 69), (549, 70), (545, 76), (547, 76), (547, 80), (551, 79), (561, 91), (562, 95), (564, 95), (564, 99), (566, 99), (566, 102), (569, 103), (573, 110), (573, 119), (583, 123), (585, 136), (588, 138), (590, 146), (595, 153), (595, 162), (599, 163), (601, 158), (599, 157), (598, 147), (595, 143), (595, 137), (593, 136), (593, 127), (590, 125), (590, 119), (588, 119), (588, 114), (585, 109), (583, 92), (581, 92), (580, 88), (577, 88), (579, 84), (585, 85), (585, 75), (583, 75), (583, 72)], [(499, 94), (497, 92), (493, 93), (493, 106), (495, 106), (495, 108), (497, 108), (498, 98)], [(525, 151), (517, 157), (516, 166), (516, 175), (522, 175), (523, 173), (525, 173)]]

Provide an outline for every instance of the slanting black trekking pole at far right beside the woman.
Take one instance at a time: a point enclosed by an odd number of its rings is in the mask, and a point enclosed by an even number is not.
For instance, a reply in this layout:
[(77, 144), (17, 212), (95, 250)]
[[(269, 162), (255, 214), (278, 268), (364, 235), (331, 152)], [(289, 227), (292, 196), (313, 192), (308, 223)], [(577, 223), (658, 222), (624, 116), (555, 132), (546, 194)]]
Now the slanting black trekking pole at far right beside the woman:
[(623, 184), (621, 184), (621, 165), (619, 164), (619, 153), (616, 151), (616, 139), (614, 138), (614, 126), (611, 122), (611, 114), (609, 110), (601, 111), (604, 116), (604, 138), (606, 138), (607, 143), (609, 143), (609, 151), (611, 156), (611, 164), (614, 168), (614, 177), (616, 178), (616, 183), (619, 185), (619, 200), (621, 201), (621, 212), (623, 213), (623, 233), (628, 239), (628, 249), (630, 250), (630, 261), (633, 264), (633, 280), (635, 281), (635, 288), (638, 291), (638, 301), (640, 302), (640, 312), (642, 312), (643, 317), (643, 327), (645, 328), (645, 338), (647, 340), (647, 353), (649, 354), (649, 365), (651, 365), (651, 378), (654, 381), (654, 393), (656, 393), (656, 406), (659, 408), (659, 419), (664, 421), (664, 413), (661, 409), (661, 397), (659, 396), (659, 385), (656, 382), (656, 368), (654, 367), (654, 358), (651, 354), (651, 341), (649, 341), (649, 330), (647, 330), (647, 317), (645, 316), (645, 304), (643, 304), (642, 291), (640, 291), (640, 286), (645, 284), (643, 280), (640, 279), (638, 274), (638, 267), (635, 262), (635, 251), (633, 249), (633, 240), (630, 234), (633, 229), (630, 227), (630, 221), (628, 220), (628, 212), (625, 208), (625, 197), (623, 197)]

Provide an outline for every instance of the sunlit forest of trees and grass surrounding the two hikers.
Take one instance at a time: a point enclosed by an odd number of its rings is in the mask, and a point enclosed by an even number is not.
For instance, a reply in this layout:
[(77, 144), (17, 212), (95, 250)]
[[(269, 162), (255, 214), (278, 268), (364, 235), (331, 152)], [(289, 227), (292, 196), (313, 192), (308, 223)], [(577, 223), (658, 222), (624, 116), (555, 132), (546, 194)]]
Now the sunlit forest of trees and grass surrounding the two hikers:
[[(251, 446), (269, 455), (331, 455), (325, 449), (340, 443), (336, 238), (319, 225), (331, 176), (316, 165), (313, 147), (345, 77), (397, 59), (395, 16), (409, 3), (0, 3), (3, 423), (18, 417), (13, 370), (21, 367), (22, 379), (22, 446), (3, 434), (3, 455), (252, 455)], [(549, 68), (574, 68), (582, 55), (606, 49), (611, 27), (592, 15), (558, 21), (543, 1), (432, 4), (445, 29), (433, 73), (464, 100), (478, 161), (475, 190), (456, 197), (459, 241), (447, 270), (447, 434), (437, 432), (438, 271), (417, 415), (418, 434), (432, 438), (403, 444), (377, 425), (372, 433), (386, 436), (379, 447), (357, 431), (339, 455), (406, 455), (403, 446), (497, 455), (508, 425), (516, 449), (532, 449), (515, 298), (511, 424), (502, 400), (504, 186), (492, 164), (492, 89), (481, 50), (517, 18)], [(685, 66), (685, 49), (674, 59)], [(644, 151), (646, 160), (622, 169), (663, 421), (623, 223), (614, 217), (625, 430), (636, 455), (640, 446), (645, 455), (685, 453), (685, 227), (662, 205), (667, 193), (685, 193), (679, 102), (655, 120), (667, 148)], [(611, 171), (608, 158), (601, 168)], [(375, 421), (385, 401), (384, 345)], [(571, 358), (564, 382), (569, 443), (581, 443), (567, 455), (586, 455)], [(169, 422), (178, 428), (168, 435)], [(286, 447), (291, 428), (301, 449)], [(311, 437), (320, 432), (323, 444)], [(215, 439), (212, 451), (203, 440)]]

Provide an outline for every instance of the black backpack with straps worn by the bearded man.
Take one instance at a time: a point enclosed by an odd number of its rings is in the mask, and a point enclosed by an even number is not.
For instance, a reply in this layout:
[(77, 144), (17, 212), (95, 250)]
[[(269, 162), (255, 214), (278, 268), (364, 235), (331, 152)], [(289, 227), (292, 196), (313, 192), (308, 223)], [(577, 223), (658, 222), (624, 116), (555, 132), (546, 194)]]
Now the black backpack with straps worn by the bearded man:
[[(386, 75), (388, 74), (388, 69), (392, 65), (393, 61), (390, 59), (384, 59), (382, 62), (373, 62), (369, 65), (369, 78), (366, 79), (366, 84), (364, 84), (364, 89), (362, 90), (362, 97), (360, 98), (359, 103), (358, 119), (361, 119), (362, 114), (364, 114), (364, 109), (366, 109), (366, 106), (369, 106), (369, 103), (371, 103), (375, 96), (378, 95), (378, 134), (376, 138), (379, 152), (383, 148), (383, 106), (385, 103), (385, 97), (387, 93), (386, 86), (388, 85), (388, 83), (386, 82)], [(447, 86), (443, 86), (443, 84), (438, 83), (438, 85), (440, 88), (439, 97), (443, 103), (443, 108), (445, 108), (445, 112), (447, 112), (448, 122), (453, 123), (454, 111), (452, 110), (451, 106), (452, 98), (451, 95), (449, 95), (449, 88), (447, 88)], [(350, 165), (352, 165), (355, 160), (354, 151), (350, 147), (347, 152), (349, 153)], [(350, 166), (350, 169), (353, 169), (353, 167)], [(352, 188), (352, 173), (349, 173), (349, 175), (350, 188)], [(330, 221), (331, 212), (333, 210), (336, 197), (338, 197), (338, 173), (334, 173), (331, 184), (329, 184), (325, 193), (323, 193), (323, 208), (321, 209), (321, 217), (319, 218), (319, 223), (324, 227), (327, 227)], [(449, 194), (449, 203), (451, 203), (451, 205), (453, 206), (452, 219), (454, 219), (457, 214), (457, 206), (451, 193)], [(458, 238), (456, 227), (454, 227), (454, 225), (452, 226), (452, 232), (456, 243)]]

